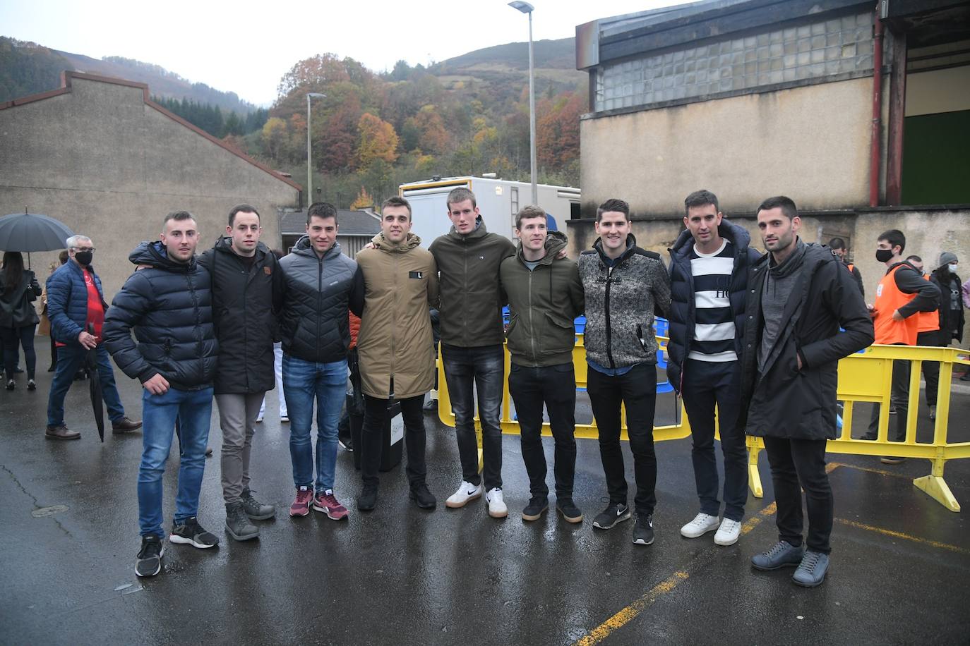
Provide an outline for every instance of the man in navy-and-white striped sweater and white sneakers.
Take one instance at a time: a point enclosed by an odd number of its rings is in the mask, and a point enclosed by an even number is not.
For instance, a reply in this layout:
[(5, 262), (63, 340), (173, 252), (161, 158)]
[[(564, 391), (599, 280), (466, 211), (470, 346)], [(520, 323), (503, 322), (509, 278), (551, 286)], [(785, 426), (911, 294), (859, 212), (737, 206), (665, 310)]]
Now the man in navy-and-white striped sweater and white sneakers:
[[(670, 249), (670, 342), (667, 377), (684, 398), (691, 422), (694, 478), (700, 510), (680, 533), (698, 538), (717, 530), (714, 542), (731, 545), (741, 533), (748, 499), (748, 460), (740, 405), (741, 340), (744, 338), (748, 267), (759, 254), (751, 236), (730, 224), (710, 191), (684, 200), (687, 227)], [(718, 465), (714, 409), (724, 453), (724, 520), (718, 518)]]

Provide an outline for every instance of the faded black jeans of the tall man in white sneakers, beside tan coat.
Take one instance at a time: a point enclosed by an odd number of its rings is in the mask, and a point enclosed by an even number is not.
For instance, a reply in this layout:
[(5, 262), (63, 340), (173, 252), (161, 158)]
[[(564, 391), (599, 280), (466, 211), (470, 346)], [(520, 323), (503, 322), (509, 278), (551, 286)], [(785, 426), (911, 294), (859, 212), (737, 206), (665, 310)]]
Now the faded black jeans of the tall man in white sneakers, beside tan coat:
[(441, 344), (441, 362), (448, 384), (455, 435), (462, 460), (462, 479), (481, 482), (478, 475), (478, 439), (475, 436), (475, 390), (482, 426), (482, 459), (485, 489), (501, 487), (501, 382), (505, 371), (501, 346), (461, 348)]

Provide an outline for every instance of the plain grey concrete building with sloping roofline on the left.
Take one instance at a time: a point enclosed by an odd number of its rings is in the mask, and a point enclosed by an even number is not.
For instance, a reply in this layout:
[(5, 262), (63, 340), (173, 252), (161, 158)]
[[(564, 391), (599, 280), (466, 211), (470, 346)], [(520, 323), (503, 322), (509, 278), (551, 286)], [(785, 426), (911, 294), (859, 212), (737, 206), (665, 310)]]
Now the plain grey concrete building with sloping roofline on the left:
[[(89, 235), (109, 301), (133, 269), (128, 254), (158, 239), (166, 213), (197, 217), (202, 250), (248, 202), (277, 247), (277, 209), (301, 203), (299, 184), (148, 96), (144, 83), (66, 72), (60, 89), (0, 104), (0, 215), (26, 206)], [(31, 255), (42, 278), (55, 260)]]

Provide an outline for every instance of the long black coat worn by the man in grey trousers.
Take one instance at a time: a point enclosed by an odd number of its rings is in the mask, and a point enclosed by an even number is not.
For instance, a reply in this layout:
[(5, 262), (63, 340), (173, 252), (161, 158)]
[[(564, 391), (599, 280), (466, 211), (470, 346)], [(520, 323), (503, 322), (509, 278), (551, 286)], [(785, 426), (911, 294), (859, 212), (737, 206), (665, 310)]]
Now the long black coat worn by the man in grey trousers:
[(212, 323), (219, 340), (217, 395), (265, 392), (276, 385), (273, 337), (282, 272), (262, 242), (247, 263), (233, 251), (232, 241), (221, 237), (199, 257), (212, 277)]

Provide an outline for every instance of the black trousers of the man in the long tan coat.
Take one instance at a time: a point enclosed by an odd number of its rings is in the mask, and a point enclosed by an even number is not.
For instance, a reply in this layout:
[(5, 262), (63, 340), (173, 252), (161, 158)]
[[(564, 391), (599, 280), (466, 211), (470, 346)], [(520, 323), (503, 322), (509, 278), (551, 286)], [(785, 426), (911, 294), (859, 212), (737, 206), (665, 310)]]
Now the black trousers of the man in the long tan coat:
[[(407, 453), (407, 482), (411, 487), (424, 484), (428, 474), (425, 466), (425, 428), (424, 395), (397, 400), (401, 403), (401, 416), (404, 417), (404, 450)], [(364, 395), (364, 428), (361, 431), (361, 478), (365, 486), (377, 486), (380, 478), (380, 450), (383, 445), (384, 426), (387, 424), (389, 399), (378, 399)]]

